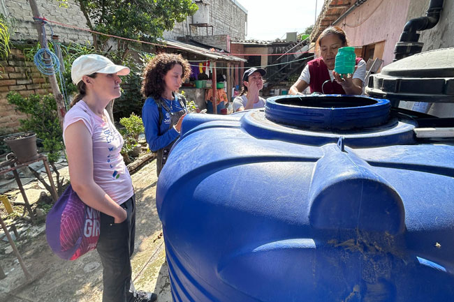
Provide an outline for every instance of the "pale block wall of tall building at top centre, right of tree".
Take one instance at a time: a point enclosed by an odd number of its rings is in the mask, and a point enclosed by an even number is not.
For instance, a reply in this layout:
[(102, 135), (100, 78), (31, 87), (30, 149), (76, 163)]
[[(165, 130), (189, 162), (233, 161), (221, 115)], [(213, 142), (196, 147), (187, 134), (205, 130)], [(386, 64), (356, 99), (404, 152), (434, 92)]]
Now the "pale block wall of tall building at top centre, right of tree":
[[(232, 40), (244, 40), (246, 38), (247, 12), (232, 0), (205, 0), (210, 4), (210, 25), (208, 36), (228, 35)], [(163, 37), (166, 39), (177, 40), (178, 37), (187, 36), (207, 36), (205, 27), (191, 27), (192, 16), (186, 21), (175, 24), (172, 31), (165, 31)], [(192, 29), (191, 29), (192, 28)], [(189, 33), (191, 31), (191, 33)]]

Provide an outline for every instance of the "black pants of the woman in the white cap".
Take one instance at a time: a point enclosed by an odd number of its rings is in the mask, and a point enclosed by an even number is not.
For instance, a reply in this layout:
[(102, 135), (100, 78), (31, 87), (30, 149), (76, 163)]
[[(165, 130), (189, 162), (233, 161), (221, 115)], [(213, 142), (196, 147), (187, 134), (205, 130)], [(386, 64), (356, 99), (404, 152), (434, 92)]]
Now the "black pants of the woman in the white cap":
[(121, 204), (128, 213), (124, 222), (101, 213), (98, 253), (103, 264), (103, 302), (126, 302), (132, 297), (131, 256), (136, 234), (136, 195)]

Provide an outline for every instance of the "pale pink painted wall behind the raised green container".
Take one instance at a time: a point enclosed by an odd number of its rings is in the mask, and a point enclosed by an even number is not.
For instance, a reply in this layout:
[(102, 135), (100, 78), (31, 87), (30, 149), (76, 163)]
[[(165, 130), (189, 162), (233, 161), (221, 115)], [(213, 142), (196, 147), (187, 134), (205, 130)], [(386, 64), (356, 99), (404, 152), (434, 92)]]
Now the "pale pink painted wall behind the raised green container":
[(344, 29), (351, 46), (385, 41), (381, 59), (384, 61), (383, 66), (386, 66), (393, 62), (395, 44), (408, 20), (407, 12), (410, 1), (367, 1), (337, 25)]

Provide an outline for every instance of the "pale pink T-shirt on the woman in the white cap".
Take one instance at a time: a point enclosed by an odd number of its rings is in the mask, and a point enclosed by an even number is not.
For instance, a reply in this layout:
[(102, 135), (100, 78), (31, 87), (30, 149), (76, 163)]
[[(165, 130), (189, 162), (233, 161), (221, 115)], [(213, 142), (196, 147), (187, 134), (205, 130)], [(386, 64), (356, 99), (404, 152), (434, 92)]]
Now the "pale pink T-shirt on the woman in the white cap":
[[(107, 122), (90, 110), (80, 100), (65, 115), (63, 133), (76, 121), (83, 121), (93, 142), (93, 179), (117, 204), (126, 202), (133, 195), (133, 183), (128, 168), (120, 154), (123, 137), (110, 121), (104, 110)], [(63, 135), (65, 140), (65, 135)], [(80, 158), (85, 160), (85, 158)], [(89, 177), (90, 175), (87, 175)]]

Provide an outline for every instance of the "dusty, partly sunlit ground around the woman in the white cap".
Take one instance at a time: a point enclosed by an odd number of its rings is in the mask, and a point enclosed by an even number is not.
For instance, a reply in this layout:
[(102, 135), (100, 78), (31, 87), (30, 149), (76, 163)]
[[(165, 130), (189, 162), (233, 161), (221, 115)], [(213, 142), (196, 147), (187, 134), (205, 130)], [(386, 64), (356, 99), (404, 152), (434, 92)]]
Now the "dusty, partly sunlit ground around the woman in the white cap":
[[(172, 301), (168, 279), (161, 221), (156, 212), (156, 160), (133, 174), (136, 189), (136, 246), (132, 258), (136, 289), (158, 294), (158, 301)], [(44, 225), (44, 224), (43, 224)], [(17, 245), (33, 281), (24, 277), (13, 252), (0, 255), (7, 273), (0, 280), (0, 301), (8, 302), (94, 302), (101, 301), (103, 269), (96, 250), (65, 261), (47, 246), (43, 225), (41, 234)]]

